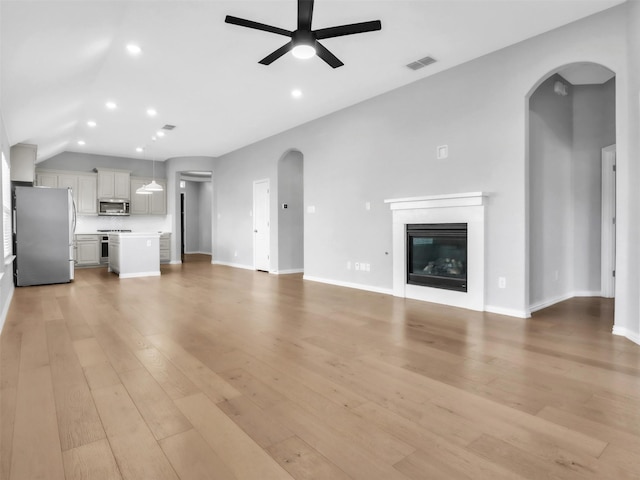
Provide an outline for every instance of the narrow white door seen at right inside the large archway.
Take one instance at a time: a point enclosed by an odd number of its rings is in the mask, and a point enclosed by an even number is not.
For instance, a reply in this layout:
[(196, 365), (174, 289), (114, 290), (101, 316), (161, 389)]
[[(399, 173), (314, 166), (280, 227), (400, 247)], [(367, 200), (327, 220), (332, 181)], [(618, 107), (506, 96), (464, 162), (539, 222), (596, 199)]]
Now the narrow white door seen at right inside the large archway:
[(602, 296), (615, 295), (616, 269), (616, 146), (602, 149)]

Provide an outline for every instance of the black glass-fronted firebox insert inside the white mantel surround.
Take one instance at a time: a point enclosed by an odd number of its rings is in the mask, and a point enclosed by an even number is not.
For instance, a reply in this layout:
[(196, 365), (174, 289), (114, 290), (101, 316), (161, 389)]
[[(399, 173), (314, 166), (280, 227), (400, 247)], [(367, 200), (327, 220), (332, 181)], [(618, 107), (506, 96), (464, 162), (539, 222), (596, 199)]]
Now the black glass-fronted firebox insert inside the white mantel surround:
[(407, 283), (467, 291), (467, 224), (407, 225)]

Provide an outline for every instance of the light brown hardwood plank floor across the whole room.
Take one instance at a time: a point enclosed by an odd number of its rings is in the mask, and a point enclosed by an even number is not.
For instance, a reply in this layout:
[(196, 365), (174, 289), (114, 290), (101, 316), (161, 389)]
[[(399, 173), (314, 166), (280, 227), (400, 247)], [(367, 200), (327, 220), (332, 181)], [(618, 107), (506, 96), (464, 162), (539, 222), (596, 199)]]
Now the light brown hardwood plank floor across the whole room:
[(611, 301), (525, 321), (162, 269), (16, 290), (2, 479), (640, 478), (640, 347)]

